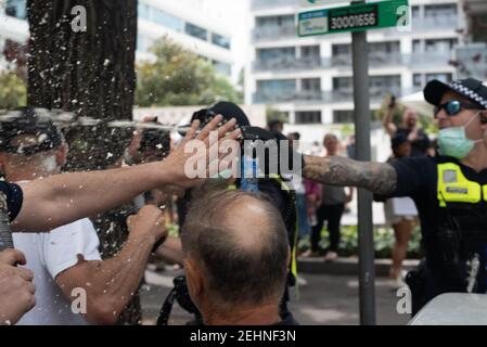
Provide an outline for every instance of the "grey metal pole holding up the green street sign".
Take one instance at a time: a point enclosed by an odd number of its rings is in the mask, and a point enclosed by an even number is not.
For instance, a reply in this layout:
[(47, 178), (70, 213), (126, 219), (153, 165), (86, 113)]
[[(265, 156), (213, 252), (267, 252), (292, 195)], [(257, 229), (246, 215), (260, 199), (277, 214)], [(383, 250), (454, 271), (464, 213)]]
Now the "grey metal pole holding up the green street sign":
[[(357, 159), (369, 162), (370, 94), (367, 31), (351, 33)], [(372, 193), (358, 190), (360, 324), (375, 325), (375, 268)]]

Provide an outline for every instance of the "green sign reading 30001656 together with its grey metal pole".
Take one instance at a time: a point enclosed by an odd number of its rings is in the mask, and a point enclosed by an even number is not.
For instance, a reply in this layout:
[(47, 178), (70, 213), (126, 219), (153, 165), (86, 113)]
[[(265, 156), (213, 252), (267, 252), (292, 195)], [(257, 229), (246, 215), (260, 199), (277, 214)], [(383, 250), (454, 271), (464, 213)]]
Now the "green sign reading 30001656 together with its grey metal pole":
[[(302, 0), (305, 7), (325, 4), (326, 0)], [(338, 0), (332, 0), (339, 2)], [(351, 31), (354, 62), (354, 103), (357, 159), (369, 162), (370, 93), (367, 31), (407, 26), (409, 0), (367, 2), (350, 0), (347, 7), (299, 12), (298, 37)], [(330, 2), (329, 2), (330, 3)], [(402, 13), (402, 14), (401, 14)], [(402, 15), (402, 16), (401, 16)], [(403, 21), (402, 21), (403, 20)], [(372, 222), (372, 193), (358, 190), (358, 233), (360, 266), (360, 323), (375, 324), (375, 267)]]

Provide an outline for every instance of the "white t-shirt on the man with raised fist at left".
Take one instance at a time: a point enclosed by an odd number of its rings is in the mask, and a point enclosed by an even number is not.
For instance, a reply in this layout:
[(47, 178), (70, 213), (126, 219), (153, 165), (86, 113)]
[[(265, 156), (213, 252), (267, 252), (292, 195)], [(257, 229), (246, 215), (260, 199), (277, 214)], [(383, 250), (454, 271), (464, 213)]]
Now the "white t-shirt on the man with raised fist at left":
[(13, 233), (16, 249), (27, 259), (27, 269), (34, 271), (36, 306), (17, 322), (20, 325), (82, 325), (79, 313), (57, 287), (54, 279), (62, 271), (85, 260), (101, 260), (100, 240), (89, 219), (80, 219), (54, 229), (50, 233)]

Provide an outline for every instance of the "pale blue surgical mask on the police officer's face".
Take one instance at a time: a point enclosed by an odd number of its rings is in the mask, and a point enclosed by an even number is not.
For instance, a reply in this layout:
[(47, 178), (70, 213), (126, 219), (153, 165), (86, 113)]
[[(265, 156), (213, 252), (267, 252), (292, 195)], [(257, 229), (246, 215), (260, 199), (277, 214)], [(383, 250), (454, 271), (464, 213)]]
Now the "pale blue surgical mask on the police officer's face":
[(479, 113), (475, 114), (475, 116), (462, 127), (451, 127), (439, 130), (438, 146), (441, 155), (463, 159), (472, 151), (475, 143), (483, 141), (471, 140), (466, 137), (466, 127), (478, 114)]

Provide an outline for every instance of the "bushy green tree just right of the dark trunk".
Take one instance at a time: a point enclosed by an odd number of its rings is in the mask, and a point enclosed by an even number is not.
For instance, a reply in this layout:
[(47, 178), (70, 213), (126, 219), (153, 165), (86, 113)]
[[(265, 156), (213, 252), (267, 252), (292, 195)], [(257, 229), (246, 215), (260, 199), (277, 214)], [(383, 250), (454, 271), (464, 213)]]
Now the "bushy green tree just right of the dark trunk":
[(239, 103), (242, 95), (210, 63), (163, 37), (151, 49), (154, 62), (138, 65), (139, 106), (208, 105), (219, 100)]

